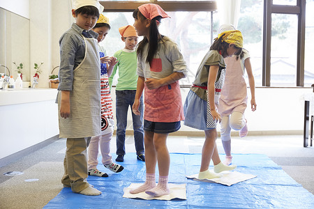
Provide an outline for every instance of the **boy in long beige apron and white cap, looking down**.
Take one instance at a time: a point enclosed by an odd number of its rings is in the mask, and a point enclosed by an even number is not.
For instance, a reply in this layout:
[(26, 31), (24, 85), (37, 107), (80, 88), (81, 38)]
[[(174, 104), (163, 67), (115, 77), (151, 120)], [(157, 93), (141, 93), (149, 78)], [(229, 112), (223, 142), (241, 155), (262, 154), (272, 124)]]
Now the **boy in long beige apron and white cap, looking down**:
[(66, 139), (64, 187), (75, 193), (99, 195), (87, 183), (87, 146), (100, 134), (100, 59), (92, 29), (103, 12), (97, 0), (73, 0), (71, 29), (60, 38), (58, 90), (60, 138)]

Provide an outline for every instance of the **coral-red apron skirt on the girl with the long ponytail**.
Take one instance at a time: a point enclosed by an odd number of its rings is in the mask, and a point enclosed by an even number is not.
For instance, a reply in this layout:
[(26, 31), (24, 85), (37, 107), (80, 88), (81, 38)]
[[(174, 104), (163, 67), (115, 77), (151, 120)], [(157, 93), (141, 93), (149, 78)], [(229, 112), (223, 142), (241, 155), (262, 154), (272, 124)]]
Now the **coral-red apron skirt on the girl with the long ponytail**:
[(144, 86), (144, 119), (172, 123), (184, 120), (179, 81), (149, 90)]

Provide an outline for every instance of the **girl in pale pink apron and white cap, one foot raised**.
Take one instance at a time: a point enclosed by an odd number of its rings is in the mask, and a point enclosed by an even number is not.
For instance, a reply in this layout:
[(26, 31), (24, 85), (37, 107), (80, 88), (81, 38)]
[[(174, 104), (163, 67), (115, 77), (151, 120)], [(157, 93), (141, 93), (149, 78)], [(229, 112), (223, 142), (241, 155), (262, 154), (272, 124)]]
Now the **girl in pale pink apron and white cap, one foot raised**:
[[(234, 30), (234, 26), (230, 24), (220, 26), (220, 32), (228, 30)], [(221, 89), (218, 112), (222, 118), (220, 135), (226, 155), (223, 163), (230, 165), (232, 162), (231, 130), (239, 130), (240, 137), (245, 137), (248, 134), (248, 126), (246, 125), (246, 118), (244, 118), (244, 111), (248, 102), (246, 81), (244, 79), (245, 69), (248, 73), (248, 82), (251, 88), (252, 111), (256, 110), (256, 102), (255, 82), (248, 51), (243, 49), (239, 56), (226, 57), (225, 64), (227, 65), (225, 83)]]

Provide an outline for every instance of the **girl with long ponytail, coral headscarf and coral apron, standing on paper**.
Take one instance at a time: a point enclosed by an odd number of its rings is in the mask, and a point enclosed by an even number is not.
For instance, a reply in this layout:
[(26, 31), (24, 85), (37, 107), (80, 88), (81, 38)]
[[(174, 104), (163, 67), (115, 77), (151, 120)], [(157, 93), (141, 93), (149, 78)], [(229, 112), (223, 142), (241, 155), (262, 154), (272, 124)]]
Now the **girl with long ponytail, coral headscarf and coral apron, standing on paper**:
[[(177, 44), (161, 36), (158, 25), (169, 17), (160, 6), (147, 3), (133, 12), (135, 29), (144, 39), (137, 47), (137, 90), (133, 112), (137, 115), (144, 90), (144, 145), (146, 181), (130, 190), (131, 194), (146, 192), (151, 196), (170, 194), (168, 174), (170, 155), (166, 139), (180, 128), (184, 120), (179, 79), (186, 77), (187, 67)], [(158, 162), (159, 180), (155, 181)]]

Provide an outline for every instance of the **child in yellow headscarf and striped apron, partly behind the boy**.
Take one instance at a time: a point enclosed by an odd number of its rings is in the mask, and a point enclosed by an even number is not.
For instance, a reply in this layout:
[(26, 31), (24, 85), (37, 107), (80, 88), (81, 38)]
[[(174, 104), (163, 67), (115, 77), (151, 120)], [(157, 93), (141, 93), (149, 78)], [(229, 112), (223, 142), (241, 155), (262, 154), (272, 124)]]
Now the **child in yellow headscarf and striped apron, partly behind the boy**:
[[(110, 141), (112, 139), (114, 120), (112, 114), (112, 98), (110, 95), (110, 88), (108, 82), (108, 76), (111, 75), (114, 65), (117, 63), (115, 57), (105, 56), (105, 49), (99, 46), (99, 43), (105, 39), (108, 31), (110, 30), (110, 24), (107, 17), (104, 15), (99, 16), (99, 19), (92, 29), (98, 33), (98, 48), (100, 53), (100, 103), (101, 103), (101, 134), (91, 137), (89, 143), (89, 161), (88, 170), (91, 176), (107, 177), (107, 173), (103, 173), (97, 169), (98, 165), (98, 150), (100, 146), (100, 152), (103, 165), (113, 171), (114, 173), (121, 172), (124, 167), (112, 162), (112, 156), (110, 155)], [(109, 68), (107, 69), (107, 64)]]

